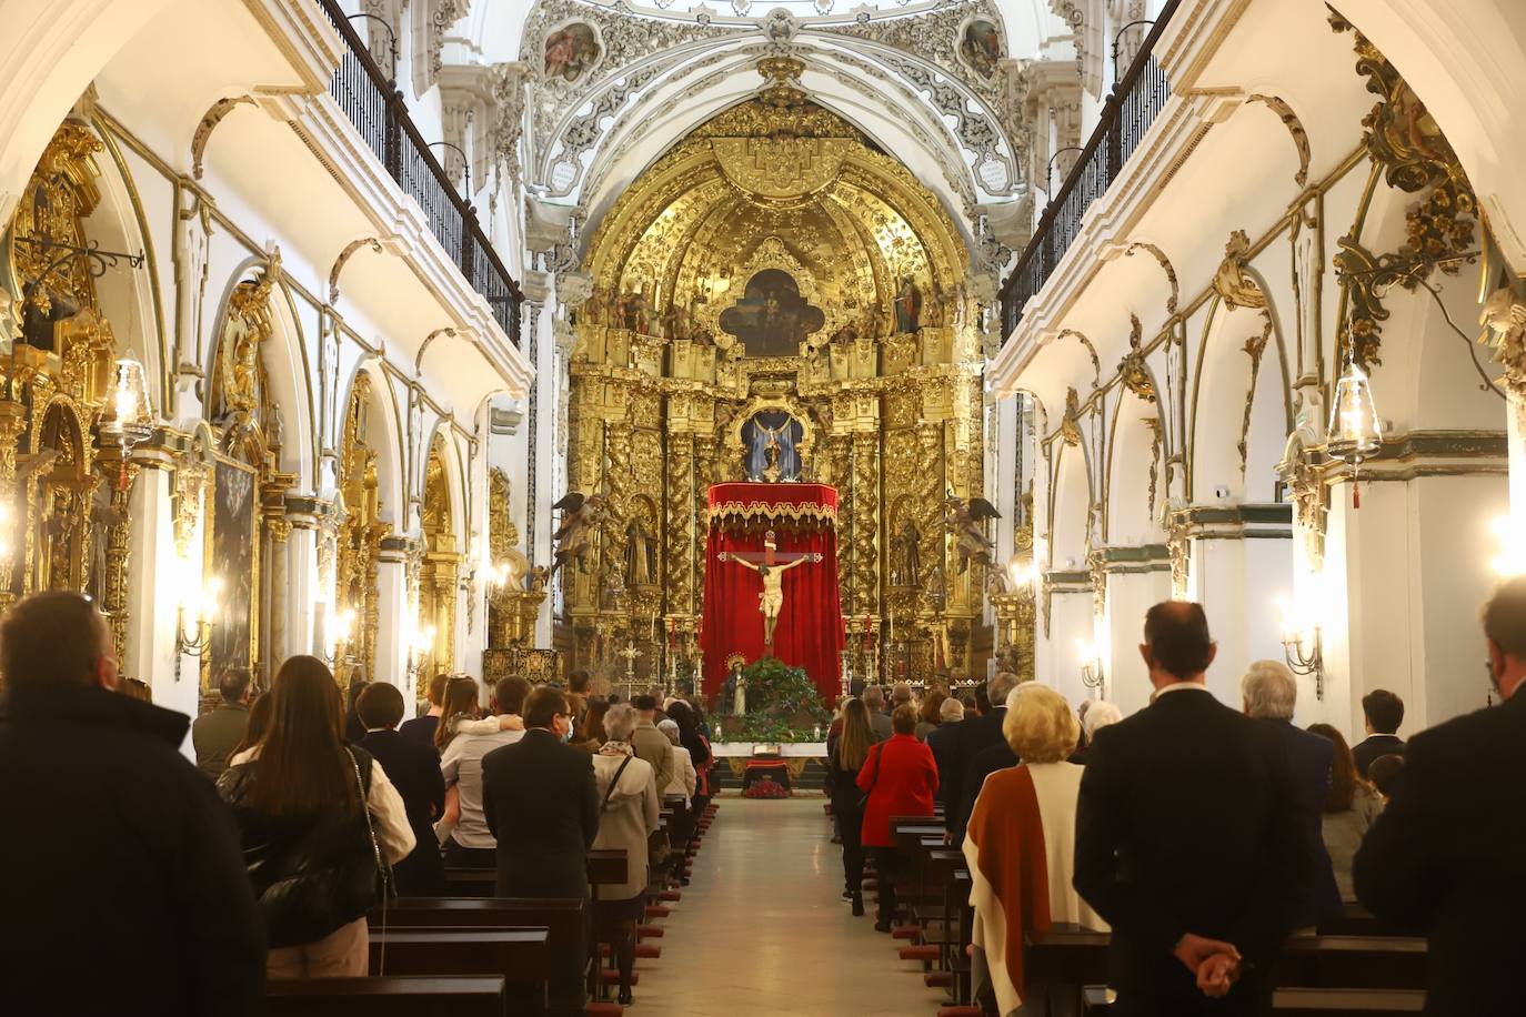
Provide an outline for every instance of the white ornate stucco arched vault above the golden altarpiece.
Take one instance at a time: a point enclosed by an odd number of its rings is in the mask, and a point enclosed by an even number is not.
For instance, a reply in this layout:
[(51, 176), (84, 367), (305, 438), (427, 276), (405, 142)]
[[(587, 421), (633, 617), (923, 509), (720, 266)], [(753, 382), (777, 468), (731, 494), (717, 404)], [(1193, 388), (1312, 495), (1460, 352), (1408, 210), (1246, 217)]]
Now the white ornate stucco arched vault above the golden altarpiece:
[(995, 0), (754, 18), (542, 0), (522, 38), (526, 183), (588, 224), (699, 124), (751, 98), (766, 53), (801, 61), (810, 98), (896, 152), (971, 249), (978, 207), (1025, 191), (1001, 114), (1015, 61)]

